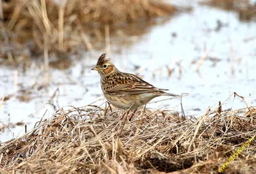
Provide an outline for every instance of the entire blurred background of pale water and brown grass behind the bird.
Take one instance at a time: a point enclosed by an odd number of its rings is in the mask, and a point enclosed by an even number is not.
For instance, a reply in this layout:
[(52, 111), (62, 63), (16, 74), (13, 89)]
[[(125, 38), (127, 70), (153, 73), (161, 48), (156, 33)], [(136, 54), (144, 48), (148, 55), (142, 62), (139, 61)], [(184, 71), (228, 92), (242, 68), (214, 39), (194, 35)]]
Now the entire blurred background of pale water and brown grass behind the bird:
[[(1, 142), (62, 107), (104, 107), (90, 70), (104, 52), (120, 71), (188, 92), (186, 117), (219, 101), (245, 108), (233, 92), (255, 106), (256, 1), (3, 0), (0, 18)], [(180, 99), (147, 107), (181, 115)]]

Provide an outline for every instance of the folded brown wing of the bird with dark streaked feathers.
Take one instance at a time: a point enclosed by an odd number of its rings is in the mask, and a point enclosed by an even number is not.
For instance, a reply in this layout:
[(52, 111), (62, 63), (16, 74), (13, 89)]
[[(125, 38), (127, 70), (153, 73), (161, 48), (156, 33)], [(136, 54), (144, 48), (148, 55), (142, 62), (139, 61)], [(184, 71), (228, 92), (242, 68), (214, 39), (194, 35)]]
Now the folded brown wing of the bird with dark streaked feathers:
[(143, 94), (148, 92), (159, 92), (168, 89), (158, 89), (136, 75), (129, 73), (116, 73), (102, 80), (102, 90), (113, 94)]

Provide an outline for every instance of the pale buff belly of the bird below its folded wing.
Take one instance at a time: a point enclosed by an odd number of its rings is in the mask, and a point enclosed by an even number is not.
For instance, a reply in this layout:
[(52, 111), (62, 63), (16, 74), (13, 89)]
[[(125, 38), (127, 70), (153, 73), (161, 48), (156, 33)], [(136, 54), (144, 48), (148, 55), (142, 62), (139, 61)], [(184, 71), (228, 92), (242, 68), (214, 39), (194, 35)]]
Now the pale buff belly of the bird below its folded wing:
[(156, 98), (156, 95), (152, 94), (140, 94), (140, 95), (109, 95), (104, 94), (105, 98), (118, 108), (136, 110), (138, 107), (147, 104), (151, 99)]

